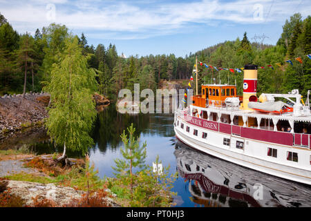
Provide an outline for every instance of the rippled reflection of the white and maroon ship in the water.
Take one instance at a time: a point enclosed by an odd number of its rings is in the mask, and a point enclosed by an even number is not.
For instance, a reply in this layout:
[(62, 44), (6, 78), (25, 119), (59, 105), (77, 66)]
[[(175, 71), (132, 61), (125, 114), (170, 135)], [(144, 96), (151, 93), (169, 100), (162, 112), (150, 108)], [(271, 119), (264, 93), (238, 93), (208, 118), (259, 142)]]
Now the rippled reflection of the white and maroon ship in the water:
[(176, 143), (178, 176), (201, 206), (311, 206), (311, 187), (266, 175)]

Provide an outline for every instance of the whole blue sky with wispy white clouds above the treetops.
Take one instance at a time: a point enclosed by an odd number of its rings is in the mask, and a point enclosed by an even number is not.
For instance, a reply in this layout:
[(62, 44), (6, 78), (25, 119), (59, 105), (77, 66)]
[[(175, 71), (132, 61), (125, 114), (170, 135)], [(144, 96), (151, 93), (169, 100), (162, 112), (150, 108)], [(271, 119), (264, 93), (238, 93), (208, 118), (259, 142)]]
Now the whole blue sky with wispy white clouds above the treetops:
[(34, 33), (49, 23), (86, 35), (88, 44), (115, 44), (129, 55), (174, 53), (185, 57), (225, 40), (254, 35), (276, 44), (282, 25), (295, 12), (311, 13), (302, 0), (0, 0), (0, 12), (19, 33)]

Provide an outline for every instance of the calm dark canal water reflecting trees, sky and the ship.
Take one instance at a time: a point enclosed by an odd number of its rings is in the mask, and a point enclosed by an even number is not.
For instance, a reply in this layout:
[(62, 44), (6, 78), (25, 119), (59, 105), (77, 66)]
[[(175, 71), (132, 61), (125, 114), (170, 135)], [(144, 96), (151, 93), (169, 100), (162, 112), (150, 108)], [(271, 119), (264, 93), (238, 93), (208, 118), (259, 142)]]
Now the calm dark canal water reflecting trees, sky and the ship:
[[(163, 166), (170, 166), (169, 173), (178, 173), (172, 189), (177, 193), (176, 206), (311, 206), (311, 186), (247, 169), (182, 144), (176, 140), (172, 114), (121, 115), (113, 105), (98, 114), (93, 128), (95, 146), (89, 150), (100, 177), (114, 176), (114, 160), (122, 158), (120, 135), (132, 123), (140, 143), (147, 142), (146, 163), (151, 166), (159, 155)], [(62, 151), (37, 137), (37, 142), (26, 143), (38, 154)]]

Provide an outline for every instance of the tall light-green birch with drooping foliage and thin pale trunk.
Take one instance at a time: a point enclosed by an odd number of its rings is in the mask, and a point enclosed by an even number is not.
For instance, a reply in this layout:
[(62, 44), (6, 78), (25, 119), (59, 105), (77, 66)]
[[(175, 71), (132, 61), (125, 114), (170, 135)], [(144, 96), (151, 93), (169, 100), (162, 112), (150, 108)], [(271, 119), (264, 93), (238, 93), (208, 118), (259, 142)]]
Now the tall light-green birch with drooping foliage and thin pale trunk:
[(66, 39), (65, 46), (64, 52), (59, 53), (59, 61), (53, 64), (51, 81), (46, 87), (52, 104), (46, 121), (48, 135), (56, 144), (64, 144), (59, 160), (66, 158), (66, 147), (85, 153), (93, 144), (89, 133), (96, 116), (95, 70), (88, 68), (77, 37)]

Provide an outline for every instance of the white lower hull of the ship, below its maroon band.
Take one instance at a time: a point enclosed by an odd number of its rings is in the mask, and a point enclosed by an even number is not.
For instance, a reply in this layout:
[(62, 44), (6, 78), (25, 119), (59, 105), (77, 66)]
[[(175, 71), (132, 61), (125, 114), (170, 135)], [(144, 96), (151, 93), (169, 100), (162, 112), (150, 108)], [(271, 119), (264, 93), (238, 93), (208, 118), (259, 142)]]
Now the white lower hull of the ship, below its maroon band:
[[(215, 157), (219, 157), (220, 159), (245, 166), (249, 169), (311, 185), (311, 165), (305, 165), (304, 163), (304, 161), (310, 160), (310, 155), (306, 155), (305, 150), (303, 149), (295, 150), (296, 152), (301, 152), (299, 154), (299, 162), (289, 162), (286, 160), (285, 156), (287, 151), (292, 151), (290, 147), (248, 140), (234, 135), (210, 131), (205, 128), (191, 125), (181, 117), (176, 116), (176, 121), (177, 120), (179, 121), (179, 126), (177, 126), (177, 124), (174, 126), (176, 137), (188, 146), (210, 155), (214, 155)], [(184, 124), (184, 128), (180, 128), (181, 123)], [(185, 130), (187, 126), (190, 128), (189, 132)], [(194, 129), (198, 130), (198, 136), (194, 135)], [(200, 133), (202, 132), (207, 133), (206, 139), (200, 136)], [(231, 140), (229, 146), (223, 145), (223, 138)], [(236, 140), (245, 143), (243, 150), (234, 146)], [(279, 159), (267, 157), (267, 146), (278, 149)], [(308, 151), (308, 153), (310, 153), (310, 151)]]

